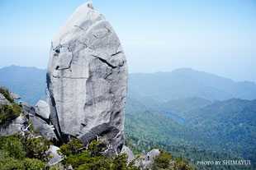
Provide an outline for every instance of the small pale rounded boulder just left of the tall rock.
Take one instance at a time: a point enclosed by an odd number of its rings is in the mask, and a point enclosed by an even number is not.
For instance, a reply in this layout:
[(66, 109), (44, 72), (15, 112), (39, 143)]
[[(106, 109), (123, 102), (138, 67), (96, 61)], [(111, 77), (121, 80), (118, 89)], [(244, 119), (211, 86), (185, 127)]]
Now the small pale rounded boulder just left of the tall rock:
[(43, 100), (39, 100), (38, 103), (36, 103), (36, 115), (44, 119), (45, 121), (48, 121), (50, 118), (50, 106), (48, 103), (46, 103)]

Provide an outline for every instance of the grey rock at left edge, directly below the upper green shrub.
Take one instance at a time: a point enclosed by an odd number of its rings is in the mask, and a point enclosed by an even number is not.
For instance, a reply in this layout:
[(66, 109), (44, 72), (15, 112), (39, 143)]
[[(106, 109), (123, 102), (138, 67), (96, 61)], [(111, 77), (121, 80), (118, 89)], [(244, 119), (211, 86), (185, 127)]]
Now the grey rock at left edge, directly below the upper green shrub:
[(27, 125), (26, 118), (21, 114), (19, 117), (9, 122), (7, 125), (0, 126), (0, 136), (12, 136), (18, 134), (21, 128)]

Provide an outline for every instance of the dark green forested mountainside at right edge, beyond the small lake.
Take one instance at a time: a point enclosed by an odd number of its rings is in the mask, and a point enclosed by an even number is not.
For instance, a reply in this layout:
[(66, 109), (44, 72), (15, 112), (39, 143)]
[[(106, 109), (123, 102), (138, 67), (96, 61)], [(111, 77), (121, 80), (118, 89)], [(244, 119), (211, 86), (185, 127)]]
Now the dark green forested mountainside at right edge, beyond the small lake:
[(221, 148), (256, 161), (256, 100), (215, 102), (206, 108), (187, 112), (182, 117), (186, 126), (218, 140)]

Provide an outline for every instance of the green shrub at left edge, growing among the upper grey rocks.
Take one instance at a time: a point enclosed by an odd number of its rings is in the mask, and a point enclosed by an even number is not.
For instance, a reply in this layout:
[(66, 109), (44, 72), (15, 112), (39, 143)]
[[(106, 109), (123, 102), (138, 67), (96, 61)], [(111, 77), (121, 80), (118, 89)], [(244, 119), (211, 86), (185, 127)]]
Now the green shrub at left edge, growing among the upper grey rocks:
[(0, 87), (0, 93), (10, 102), (12, 106), (8, 104), (2, 104), (0, 107), (0, 125), (12, 121), (16, 117), (20, 115), (22, 112), (22, 108), (15, 103), (14, 99), (12, 99), (9, 90), (5, 87)]

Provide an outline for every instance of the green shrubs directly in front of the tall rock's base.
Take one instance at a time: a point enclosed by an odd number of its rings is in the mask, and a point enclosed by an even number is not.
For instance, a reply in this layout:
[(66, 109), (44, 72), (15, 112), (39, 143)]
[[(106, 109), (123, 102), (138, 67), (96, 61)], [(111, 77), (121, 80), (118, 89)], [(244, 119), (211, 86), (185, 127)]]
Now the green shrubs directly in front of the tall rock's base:
[(87, 146), (73, 139), (68, 144), (60, 146), (59, 154), (63, 156), (62, 163), (65, 168), (72, 165), (74, 169), (132, 169), (139, 170), (133, 166), (134, 162), (128, 163), (126, 154), (105, 155), (107, 151), (107, 140), (92, 140)]

